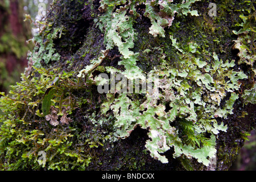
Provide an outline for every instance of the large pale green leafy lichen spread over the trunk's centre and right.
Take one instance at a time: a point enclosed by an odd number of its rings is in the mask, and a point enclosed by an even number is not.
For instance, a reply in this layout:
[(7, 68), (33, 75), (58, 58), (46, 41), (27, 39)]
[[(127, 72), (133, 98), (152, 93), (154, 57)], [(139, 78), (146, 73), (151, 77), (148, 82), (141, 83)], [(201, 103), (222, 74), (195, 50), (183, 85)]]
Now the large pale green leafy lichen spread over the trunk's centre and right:
[[(152, 23), (149, 33), (153, 36), (165, 37), (163, 28), (171, 26), (174, 15), (178, 11), (184, 15), (187, 13), (198, 15), (195, 10), (189, 10), (193, 2), (195, 1), (174, 5), (170, 1), (143, 1), (142, 3), (146, 5), (144, 16), (150, 18)], [(115, 10), (117, 5), (119, 8)], [(136, 39), (133, 28), (133, 16), (136, 14), (129, 12), (131, 15), (127, 15), (127, 12), (129, 8), (134, 10), (135, 5), (139, 3), (101, 1), (100, 10), (105, 11), (105, 14), (100, 17), (98, 25), (105, 32), (106, 48), (112, 49), (117, 46), (122, 55), (122, 61), (119, 64), (125, 66), (125, 71), (121, 73), (130, 80), (135, 78), (143, 80), (142, 71), (136, 65), (137, 53), (130, 51)], [(160, 6), (159, 12), (155, 11), (156, 5)], [(216, 155), (215, 135), (227, 129), (223, 123), (217, 125), (215, 118), (226, 118), (228, 114), (232, 114), (233, 104), (238, 98), (234, 91), (240, 88), (238, 80), (247, 78), (247, 76), (242, 71), (232, 71), (235, 65), (234, 60), (223, 62), (213, 53), (214, 61), (208, 64), (193, 56), (199, 48), (196, 42), (191, 42), (188, 47), (181, 48), (172, 35), (170, 39), (182, 61), (179, 63), (179, 70), (172, 68), (171, 65), (163, 64), (162, 69), (151, 71), (159, 76), (158, 86), (162, 92), (157, 93), (154, 90), (153, 93), (146, 93), (144, 96), (146, 101), (143, 103), (136, 100), (134, 94), (129, 94), (128, 97), (127, 94), (120, 93), (117, 98), (114, 98), (113, 93), (108, 93), (108, 101), (102, 105), (102, 111), (105, 114), (109, 109), (113, 111), (117, 119), (114, 126), (117, 129), (118, 138), (127, 138), (138, 125), (142, 129), (148, 129), (150, 139), (146, 142), (146, 148), (152, 157), (161, 162), (167, 163), (168, 160), (160, 154), (174, 147), (175, 157), (181, 154), (187, 158), (194, 157), (198, 162), (208, 166), (210, 163), (208, 159)], [(164, 56), (162, 59), (163, 63), (166, 63)], [(83, 71), (89, 67), (92, 65)], [(201, 72), (202, 68), (205, 73)], [(113, 69), (110, 71), (112, 74), (114, 72), (116, 71)], [(229, 81), (225, 80), (226, 77)], [(189, 82), (195, 83), (197, 87), (188, 84)], [(229, 100), (226, 101), (225, 106), (220, 106), (228, 92), (231, 92)], [(204, 98), (204, 94), (210, 97)], [(168, 111), (166, 111), (167, 105), (171, 108)], [(180, 130), (187, 130), (185, 134), (183, 133), (185, 139), (181, 138), (179, 129), (171, 126), (172, 122), (184, 123), (184, 125), (180, 124)], [(205, 138), (205, 133), (211, 134), (211, 137)]]

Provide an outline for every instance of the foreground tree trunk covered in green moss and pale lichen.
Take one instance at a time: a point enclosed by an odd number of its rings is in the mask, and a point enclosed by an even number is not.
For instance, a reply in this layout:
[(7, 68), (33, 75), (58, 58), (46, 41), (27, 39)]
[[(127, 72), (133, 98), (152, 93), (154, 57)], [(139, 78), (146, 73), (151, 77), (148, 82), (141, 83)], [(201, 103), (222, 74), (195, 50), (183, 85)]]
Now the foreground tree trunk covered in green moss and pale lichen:
[(0, 169), (228, 169), (255, 128), (256, 4), (213, 2), (53, 1), (1, 93)]

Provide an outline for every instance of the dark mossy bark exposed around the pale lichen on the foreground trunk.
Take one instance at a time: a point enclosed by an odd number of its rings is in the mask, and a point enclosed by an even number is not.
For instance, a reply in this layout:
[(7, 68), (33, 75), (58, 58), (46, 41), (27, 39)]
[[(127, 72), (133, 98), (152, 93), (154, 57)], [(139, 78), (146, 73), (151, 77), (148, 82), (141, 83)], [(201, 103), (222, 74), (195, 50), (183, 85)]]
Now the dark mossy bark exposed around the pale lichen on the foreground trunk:
[[(204, 60), (209, 61), (207, 52), (215, 52), (222, 60), (236, 60), (235, 69), (242, 69), (243, 72), (247, 73), (250, 72), (251, 67), (249, 65), (237, 64), (239, 60), (237, 53), (239, 51), (233, 49), (233, 40), (237, 39), (237, 35), (233, 34), (232, 31), (238, 28), (236, 27), (236, 22), (240, 21), (240, 10), (251, 9), (252, 6), (255, 7), (255, 3), (251, 2), (249, 5), (243, 1), (239, 1), (236, 4), (234, 4), (233, 1), (216, 1), (215, 3), (218, 5), (217, 17), (213, 18), (208, 16), (209, 3), (207, 1), (196, 2), (192, 5), (192, 9), (196, 9), (200, 16), (186, 16), (185, 19), (183, 16), (175, 17), (172, 26), (164, 29), (166, 31), (166, 38), (148, 34), (148, 30), (151, 26), (150, 19), (143, 16), (145, 6), (138, 6), (136, 10), (139, 17), (135, 19), (133, 25), (138, 35), (132, 49), (134, 52), (139, 52), (139, 61), (137, 61), (138, 67), (144, 72), (149, 72), (154, 69), (154, 67), (157, 68), (160, 66), (160, 60), (164, 55), (168, 64), (180, 69), (179, 54), (177, 54), (171, 46), (171, 39), (167, 38), (173, 35), (179, 40), (183, 47), (186, 47), (191, 41), (196, 42), (200, 47), (197, 56), (201, 56)], [(59, 73), (63, 74), (63, 72), (73, 72), (73, 77), (76, 77), (75, 73), (79, 73), (81, 69), (84, 69), (86, 65), (90, 64), (91, 60), (97, 59), (101, 51), (105, 50), (104, 33), (96, 26), (97, 16), (102, 14), (100, 9), (98, 9), (99, 7), (100, 1), (55, 1), (53, 9), (50, 11), (46, 20), (47, 23), (51, 24), (52, 28), (63, 28), (61, 36), (56, 36), (53, 39), (54, 48), (61, 58), (59, 61), (50, 61), (49, 64), (44, 63), (43, 60), (41, 61), (43, 68), (47, 69), (47, 74), (51, 71), (54, 72), (55, 75)], [(44, 32), (44, 30), (42, 32), (42, 39), (46, 39), (48, 33)], [(254, 36), (254, 33), (252, 34)], [(145, 49), (150, 49), (151, 52), (145, 52)], [(111, 66), (119, 70), (124, 70), (123, 65), (118, 64), (121, 61), (120, 56), (121, 53), (118, 51), (118, 47), (114, 47), (108, 52), (101, 66)], [(30, 69), (32, 70), (32, 68)], [(97, 75), (98, 72), (100, 71), (95, 71), (93, 74)], [(203, 69), (202, 72), (204, 72)], [(34, 73), (32, 77), (38, 77), (38, 73)], [(242, 84), (244, 88), (251, 88), (254, 84), (254, 79), (255, 76), (252, 75), (247, 80), (243, 81)], [(106, 95), (98, 93), (96, 85), (86, 88), (86, 85), (81, 85), (81, 80), (79, 81), (80, 85), (78, 86), (74, 86), (74, 82), (72, 81), (63, 81), (61, 82), (63, 85), (61, 86), (60, 84), (59, 87), (63, 89), (63, 91), (61, 91), (61, 93), (63, 92), (61, 98), (66, 96), (72, 97), (72, 99), (69, 99), (69, 102), (67, 100), (63, 105), (69, 105), (73, 108), (69, 117), (73, 119), (71, 126), (75, 131), (72, 131), (73, 137), (68, 139), (69, 142), (73, 143), (72, 145), (67, 144), (68, 151), (65, 153), (65, 151), (61, 151), (60, 149), (61, 152), (56, 152), (56, 156), (58, 155), (59, 160), (62, 160), (61, 156), (64, 154), (66, 154), (65, 157), (71, 156), (67, 159), (66, 162), (68, 164), (66, 166), (64, 166), (65, 162), (63, 162), (63, 167), (56, 167), (57, 169), (227, 170), (239, 154), (245, 141), (245, 134), (256, 126), (256, 107), (253, 104), (244, 105), (241, 93), (240, 98), (236, 100), (233, 106), (234, 114), (228, 115), (226, 119), (217, 118), (217, 122), (224, 122), (224, 125), (228, 126), (228, 130), (226, 132), (220, 131), (217, 135), (216, 166), (213, 164), (212, 166), (205, 167), (194, 158), (187, 159), (183, 158), (183, 156), (173, 158), (173, 148), (164, 153), (168, 159), (168, 163), (163, 164), (159, 162), (159, 160), (152, 158), (150, 153), (146, 150), (145, 143), (146, 140), (148, 140), (148, 130), (146, 129), (137, 127), (131, 132), (128, 138), (118, 139), (115, 142), (110, 142), (108, 139), (105, 139), (106, 135), (113, 134), (115, 122), (113, 111), (109, 110), (108, 115), (101, 113), (101, 107), (104, 101), (106, 101)], [(82, 84), (84, 84), (84, 82), (82, 82)], [(59, 94), (59, 91), (56, 91), (56, 95), (57, 94)], [(229, 97), (230, 94), (226, 96), (226, 100), (228, 100)], [(42, 101), (43, 95), (38, 95), (36, 98)], [(80, 98), (85, 99), (81, 101)], [(140, 99), (143, 100), (143, 98), (138, 98), (138, 100)], [(33, 98), (33, 100), (36, 99)], [(77, 103), (74, 104), (75, 102), (80, 102), (80, 104), (76, 105)], [(222, 102), (221, 104), (225, 104), (225, 99)], [(28, 130), (32, 130), (33, 127), (37, 129), (42, 127), (41, 131), (44, 131), (47, 137), (54, 136), (55, 132), (57, 133), (59, 131), (69, 132), (68, 126), (57, 126), (56, 128), (49, 129), (45, 124), (45, 119), (38, 118), (39, 114), (35, 114), (36, 109), (41, 110), (40, 107), (41, 105), (36, 105), (35, 110), (31, 111), (26, 111), (26, 109), (19, 110), (20, 115), (26, 113), (26, 117), (24, 115), (23, 119), (27, 118), (27, 121), (31, 122), (31, 125), (27, 125)], [(167, 110), (170, 110), (170, 108), (167, 108)], [(27, 114), (27, 112), (30, 114)], [(178, 127), (179, 123), (174, 122), (172, 125)], [(26, 127), (22, 130), (24, 129), (26, 129)], [(42, 143), (41, 140), (40, 142)], [(97, 147), (94, 147), (94, 145)], [(46, 148), (46, 146), (42, 146), (41, 150), (43, 150), (43, 148)], [(40, 149), (37, 148), (36, 150), (39, 151)], [(72, 152), (72, 150), (74, 151)], [(88, 157), (86, 158), (88, 163), (83, 167), (79, 167), (79, 162), (75, 164), (75, 161), (78, 160), (76, 159), (77, 155), (75, 155), (75, 153), (78, 150), (82, 155)], [(2, 153), (1, 156), (2, 169), (6, 169), (7, 167), (4, 163), (7, 163), (7, 159), (5, 159), (5, 154)], [(27, 158), (30, 158), (30, 156), (28, 155)], [(51, 159), (53, 160), (54, 156), (51, 156)], [(72, 160), (74, 160), (74, 162)], [(8, 162), (15, 163), (10, 159)], [(16, 169), (21, 168), (19, 164), (15, 165)], [(62, 165), (62, 163), (55, 162), (54, 165), (58, 166)], [(54, 165), (49, 165), (49, 168), (53, 169)], [(68, 165), (73, 165), (73, 167), (69, 167)], [(30, 161), (27, 162), (27, 168), (40, 169), (40, 166), (34, 167)], [(43, 168), (49, 169), (44, 166)]]

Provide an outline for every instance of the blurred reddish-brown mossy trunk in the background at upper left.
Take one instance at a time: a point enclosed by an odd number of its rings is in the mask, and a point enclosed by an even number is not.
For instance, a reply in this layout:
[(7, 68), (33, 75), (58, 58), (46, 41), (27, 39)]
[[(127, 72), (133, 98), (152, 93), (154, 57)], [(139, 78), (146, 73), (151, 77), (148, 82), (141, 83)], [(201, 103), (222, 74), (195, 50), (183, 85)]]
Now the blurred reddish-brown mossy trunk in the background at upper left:
[(18, 0), (0, 1), (0, 90), (20, 81), (20, 73), (27, 66), (26, 40), (31, 38), (30, 24), (23, 22), (23, 6)]

